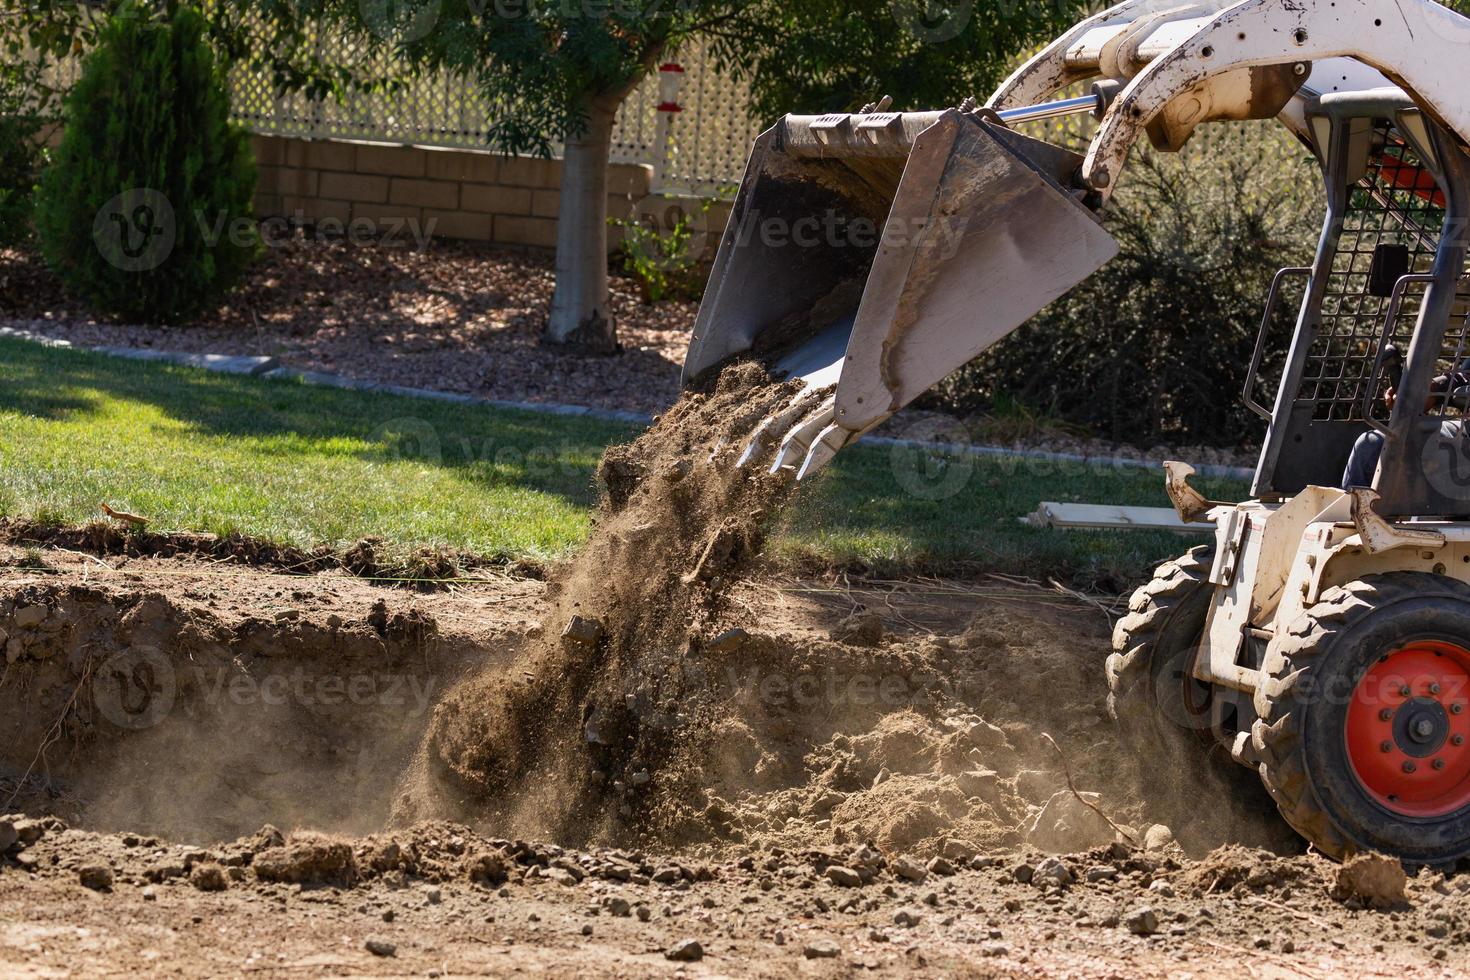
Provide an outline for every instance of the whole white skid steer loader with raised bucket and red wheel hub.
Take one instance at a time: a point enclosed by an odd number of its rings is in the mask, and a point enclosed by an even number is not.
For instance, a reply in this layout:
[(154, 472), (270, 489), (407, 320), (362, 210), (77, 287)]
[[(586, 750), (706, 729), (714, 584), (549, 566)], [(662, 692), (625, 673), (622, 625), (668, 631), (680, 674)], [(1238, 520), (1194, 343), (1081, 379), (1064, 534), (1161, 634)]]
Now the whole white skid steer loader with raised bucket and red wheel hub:
[[(1322, 165), (1326, 222), (1264, 298), (1252, 498), (1208, 501), (1166, 464), (1214, 544), (1132, 597), (1108, 702), (1142, 751), (1182, 729), (1257, 768), (1327, 855), (1470, 855), (1470, 21), (1432, 0), (1129, 0), (985, 106), (878, 109), (786, 116), (754, 144), (684, 369), (754, 356), (803, 382), (741, 463), (808, 476), (1107, 263), (1098, 216), (1141, 135), (1177, 150), (1202, 123), (1280, 120)], [(1085, 156), (1013, 128), (1088, 110)], [(1342, 489), (1349, 458), (1367, 486)]]

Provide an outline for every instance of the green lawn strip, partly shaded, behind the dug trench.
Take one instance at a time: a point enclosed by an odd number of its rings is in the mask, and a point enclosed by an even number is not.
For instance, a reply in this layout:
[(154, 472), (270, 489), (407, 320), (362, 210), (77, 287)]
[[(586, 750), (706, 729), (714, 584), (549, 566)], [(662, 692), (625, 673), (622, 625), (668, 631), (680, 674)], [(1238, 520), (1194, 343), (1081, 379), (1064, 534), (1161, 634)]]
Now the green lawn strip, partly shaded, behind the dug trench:
[[(237, 378), (0, 338), (0, 513), (343, 547), (379, 536), (557, 558), (587, 535), (592, 472), (625, 425)], [(1164, 505), (1161, 473), (936, 460), (856, 447), (798, 498), (776, 554), (883, 572), (982, 567), (1122, 586), (1173, 535), (1051, 532), (1039, 500)], [(1244, 486), (1204, 482), (1235, 498)]]

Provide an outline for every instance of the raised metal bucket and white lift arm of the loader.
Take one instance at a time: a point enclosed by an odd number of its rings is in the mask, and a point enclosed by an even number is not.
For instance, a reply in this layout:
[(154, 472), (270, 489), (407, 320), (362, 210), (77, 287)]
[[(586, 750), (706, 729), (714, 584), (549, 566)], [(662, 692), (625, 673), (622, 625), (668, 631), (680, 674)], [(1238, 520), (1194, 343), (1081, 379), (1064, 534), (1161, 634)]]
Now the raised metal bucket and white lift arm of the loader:
[[(1035, 104), (1091, 78), (1108, 84)], [(786, 116), (756, 143), (684, 381), (754, 356), (804, 382), (738, 457), (773, 450), (800, 479), (1117, 254), (1100, 210), (1141, 134), (1175, 151), (1204, 122), (1279, 118), (1316, 145), (1313, 98), (1394, 84), (1470, 144), (1470, 21), (1433, 0), (1125, 0), (983, 110)], [(1086, 109), (1086, 156), (1010, 129)]]

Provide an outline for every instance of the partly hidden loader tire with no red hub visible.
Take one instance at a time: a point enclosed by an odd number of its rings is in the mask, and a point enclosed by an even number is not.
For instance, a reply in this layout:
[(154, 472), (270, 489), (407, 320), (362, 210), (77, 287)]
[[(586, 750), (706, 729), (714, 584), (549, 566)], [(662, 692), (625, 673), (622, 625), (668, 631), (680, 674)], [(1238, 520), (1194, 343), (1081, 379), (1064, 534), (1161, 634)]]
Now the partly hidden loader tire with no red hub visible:
[[(1107, 710), (1130, 741), (1151, 741), (1160, 723), (1200, 735), (1182, 710), (1182, 673), (1200, 648), (1210, 613), (1211, 545), (1191, 548), (1154, 570), (1113, 627), (1107, 658)], [(1169, 693), (1164, 693), (1169, 692)]]

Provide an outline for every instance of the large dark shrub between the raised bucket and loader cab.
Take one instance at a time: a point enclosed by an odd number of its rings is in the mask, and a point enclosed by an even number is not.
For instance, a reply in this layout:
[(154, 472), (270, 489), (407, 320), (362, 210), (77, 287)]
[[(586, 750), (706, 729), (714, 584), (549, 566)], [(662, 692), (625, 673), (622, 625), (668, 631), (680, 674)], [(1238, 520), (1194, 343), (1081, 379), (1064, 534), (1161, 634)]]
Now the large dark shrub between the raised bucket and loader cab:
[[(969, 414), (1014, 403), (1139, 445), (1258, 438), (1241, 388), (1272, 276), (1311, 259), (1322, 181), (1280, 131), (1232, 123), (1207, 141), (1135, 151), (1105, 217), (1120, 254), (923, 404)], [(1264, 378), (1279, 375), (1285, 320)]]

